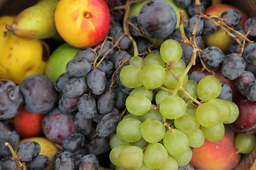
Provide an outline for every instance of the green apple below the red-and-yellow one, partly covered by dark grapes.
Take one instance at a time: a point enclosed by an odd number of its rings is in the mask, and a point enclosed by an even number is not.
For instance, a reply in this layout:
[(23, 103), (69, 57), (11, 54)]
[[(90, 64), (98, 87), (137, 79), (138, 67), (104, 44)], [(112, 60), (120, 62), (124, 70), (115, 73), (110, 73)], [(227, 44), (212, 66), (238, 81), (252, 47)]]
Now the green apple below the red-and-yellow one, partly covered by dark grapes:
[(80, 51), (80, 48), (73, 47), (68, 43), (64, 43), (57, 47), (46, 63), (45, 75), (55, 82), (60, 74), (66, 72), (66, 64), (75, 57), (78, 51)]

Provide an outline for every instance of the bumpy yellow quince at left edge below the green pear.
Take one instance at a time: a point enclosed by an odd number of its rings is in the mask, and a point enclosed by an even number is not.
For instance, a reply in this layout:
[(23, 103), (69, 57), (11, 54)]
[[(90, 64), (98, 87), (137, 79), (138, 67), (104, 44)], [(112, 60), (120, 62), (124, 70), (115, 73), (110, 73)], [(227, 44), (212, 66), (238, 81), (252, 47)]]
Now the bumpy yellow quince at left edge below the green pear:
[(31, 74), (43, 74), (50, 49), (42, 40), (24, 40), (5, 28), (15, 16), (0, 17), (0, 79), (19, 84)]

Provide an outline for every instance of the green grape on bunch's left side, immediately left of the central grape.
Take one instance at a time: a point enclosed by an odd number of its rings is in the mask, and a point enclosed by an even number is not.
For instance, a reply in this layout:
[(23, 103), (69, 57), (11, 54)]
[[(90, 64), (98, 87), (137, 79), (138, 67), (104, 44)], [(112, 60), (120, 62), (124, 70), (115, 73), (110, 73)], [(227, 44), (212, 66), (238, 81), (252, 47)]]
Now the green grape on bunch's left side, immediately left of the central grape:
[(125, 105), (127, 111), (133, 115), (144, 115), (150, 110), (151, 101), (143, 94), (130, 94)]

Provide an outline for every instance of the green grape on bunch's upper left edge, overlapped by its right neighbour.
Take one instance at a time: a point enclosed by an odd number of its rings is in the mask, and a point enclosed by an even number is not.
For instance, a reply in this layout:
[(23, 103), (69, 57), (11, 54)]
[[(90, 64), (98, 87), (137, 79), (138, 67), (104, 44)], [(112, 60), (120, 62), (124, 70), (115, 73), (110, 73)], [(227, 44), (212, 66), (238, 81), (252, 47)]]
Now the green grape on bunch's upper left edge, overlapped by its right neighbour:
[(141, 81), (139, 80), (139, 74), (142, 69), (135, 65), (125, 66), (119, 75), (120, 81), (124, 86), (129, 88), (136, 88), (142, 86)]

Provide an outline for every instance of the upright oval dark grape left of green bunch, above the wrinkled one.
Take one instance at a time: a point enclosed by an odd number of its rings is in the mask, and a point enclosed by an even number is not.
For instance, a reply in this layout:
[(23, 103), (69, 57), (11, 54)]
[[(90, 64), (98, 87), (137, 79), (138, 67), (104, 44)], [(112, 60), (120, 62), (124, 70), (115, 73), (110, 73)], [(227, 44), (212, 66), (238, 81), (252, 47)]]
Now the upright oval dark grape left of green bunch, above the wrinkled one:
[(97, 98), (97, 111), (101, 114), (109, 113), (114, 107), (114, 89), (107, 87)]

